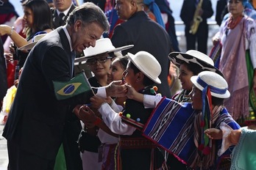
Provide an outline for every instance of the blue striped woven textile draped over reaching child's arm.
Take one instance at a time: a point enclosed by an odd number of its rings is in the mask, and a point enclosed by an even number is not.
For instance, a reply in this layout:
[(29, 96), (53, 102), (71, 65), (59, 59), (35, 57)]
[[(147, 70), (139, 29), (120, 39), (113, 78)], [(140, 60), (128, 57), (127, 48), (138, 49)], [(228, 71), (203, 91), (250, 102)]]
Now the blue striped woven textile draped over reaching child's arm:
[(177, 103), (164, 98), (149, 117), (143, 136), (190, 164), (196, 152), (193, 142), (195, 115), (191, 103)]

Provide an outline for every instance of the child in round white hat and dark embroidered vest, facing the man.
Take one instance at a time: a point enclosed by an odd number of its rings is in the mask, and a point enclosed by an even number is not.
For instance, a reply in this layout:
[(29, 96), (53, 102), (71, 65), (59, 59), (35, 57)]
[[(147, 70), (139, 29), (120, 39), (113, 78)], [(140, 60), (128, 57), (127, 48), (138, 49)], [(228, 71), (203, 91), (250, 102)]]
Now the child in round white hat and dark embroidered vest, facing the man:
[[(158, 78), (161, 73), (160, 64), (146, 51), (140, 51), (135, 55), (128, 53), (127, 56), (129, 62), (123, 73), (124, 81), (141, 94), (155, 95), (153, 84), (161, 83)], [(123, 111), (119, 110), (118, 113), (101, 97), (94, 96), (90, 100), (92, 106), (98, 108), (102, 114), (102, 119), (97, 118), (87, 106), (82, 106), (79, 114), (94, 125), (100, 125), (103, 120), (113, 133), (119, 135), (118, 151), (121, 158), (117, 161), (117, 169), (159, 169), (162, 166), (163, 155), (155, 144), (144, 138), (141, 133), (152, 108), (144, 108), (143, 103), (127, 99)], [(154, 159), (156, 156), (157, 160)]]

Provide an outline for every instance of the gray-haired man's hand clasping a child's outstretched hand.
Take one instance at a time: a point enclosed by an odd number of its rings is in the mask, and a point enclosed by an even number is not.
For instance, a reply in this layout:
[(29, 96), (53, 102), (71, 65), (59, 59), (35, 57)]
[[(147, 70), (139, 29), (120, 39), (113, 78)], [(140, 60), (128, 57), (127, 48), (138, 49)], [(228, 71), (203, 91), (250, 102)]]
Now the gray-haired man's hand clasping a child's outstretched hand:
[(127, 95), (127, 86), (121, 85), (122, 81), (112, 81), (106, 88), (107, 96), (124, 97)]

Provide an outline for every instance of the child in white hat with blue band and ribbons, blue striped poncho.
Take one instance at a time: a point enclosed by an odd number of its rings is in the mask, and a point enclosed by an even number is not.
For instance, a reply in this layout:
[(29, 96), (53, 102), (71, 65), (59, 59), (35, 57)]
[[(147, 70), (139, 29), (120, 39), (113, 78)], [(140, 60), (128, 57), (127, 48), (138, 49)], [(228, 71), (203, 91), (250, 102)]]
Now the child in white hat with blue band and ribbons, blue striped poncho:
[(204, 131), (219, 128), (221, 122), (232, 129), (240, 128), (223, 106), (224, 99), (230, 97), (227, 81), (210, 71), (193, 75), (191, 81), (191, 103), (141, 95), (129, 86), (127, 95), (145, 107), (156, 107), (143, 129), (144, 136), (177, 155), (190, 168), (218, 169), (220, 161), (230, 156), (232, 147), (217, 156), (221, 139), (213, 142)]

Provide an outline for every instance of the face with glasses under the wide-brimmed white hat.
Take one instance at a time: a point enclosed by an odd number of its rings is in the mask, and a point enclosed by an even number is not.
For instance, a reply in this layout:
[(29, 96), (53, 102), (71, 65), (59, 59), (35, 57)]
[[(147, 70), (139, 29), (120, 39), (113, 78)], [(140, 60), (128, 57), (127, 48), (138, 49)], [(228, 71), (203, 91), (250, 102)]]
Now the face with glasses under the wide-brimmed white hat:
[(88, 59), (88, 66), (96, 77), (107, 75), (110, 72), (111, 59), (107, 57), (109, 57), (108, 54), (103, 54)]

